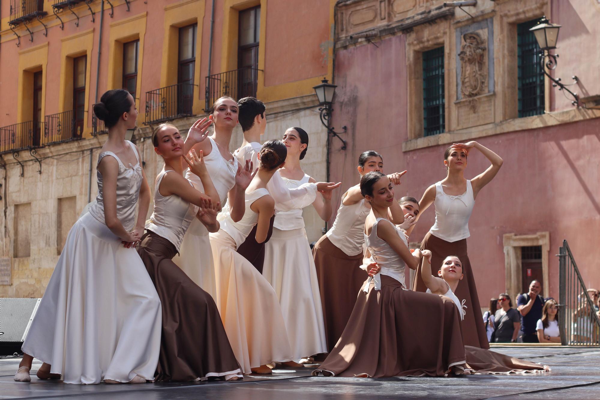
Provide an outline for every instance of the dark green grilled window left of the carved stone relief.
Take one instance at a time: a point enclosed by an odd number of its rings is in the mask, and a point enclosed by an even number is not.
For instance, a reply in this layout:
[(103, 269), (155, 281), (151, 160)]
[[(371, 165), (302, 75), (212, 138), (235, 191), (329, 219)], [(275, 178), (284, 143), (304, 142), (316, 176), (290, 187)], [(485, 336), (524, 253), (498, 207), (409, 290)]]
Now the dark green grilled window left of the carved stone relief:
[(446, 125), (444, 47), (423, 52), (423, 136), (443, 133)]

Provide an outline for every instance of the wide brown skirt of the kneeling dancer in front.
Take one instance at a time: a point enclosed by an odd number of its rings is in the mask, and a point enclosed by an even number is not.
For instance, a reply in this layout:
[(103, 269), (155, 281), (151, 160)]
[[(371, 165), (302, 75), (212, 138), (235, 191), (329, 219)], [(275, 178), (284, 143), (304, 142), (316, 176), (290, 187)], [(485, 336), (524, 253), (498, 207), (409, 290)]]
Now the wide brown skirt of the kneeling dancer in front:
[(460, 316), (448, 297), (404, 290), (381, 276), (356, 304), (334, 350), (313, 375), (338, 377), (443, 377), (465, 366)]

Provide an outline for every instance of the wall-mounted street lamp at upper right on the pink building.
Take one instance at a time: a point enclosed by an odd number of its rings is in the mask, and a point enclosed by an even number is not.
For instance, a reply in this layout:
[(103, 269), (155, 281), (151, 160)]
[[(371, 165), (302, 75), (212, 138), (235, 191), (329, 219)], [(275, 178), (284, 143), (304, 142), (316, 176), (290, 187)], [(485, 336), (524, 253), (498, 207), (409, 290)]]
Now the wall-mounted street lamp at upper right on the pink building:
[(575, 85), (575, 83), (577, 83), (577, 76), (572, 76), (572, 79), (575, 82), (565, 85), (565, 83), (560, 82), (560, 78), (556, 79), (550, 76), (550, 74), (546, 71), (546, 68), (548, 68), (548, 70), (554, 70), (556, 68), (556, 59), (559, 58), (559, 55), (551, 54), (550, 50), (556, 49), (556, 41), (559, 38), (559, 29), (560, 25), (551, 23), (544, 16), (541, 20), (539, 20), (538, 25), (533, 26), (533, 28), (529, 30), (533, 32), (535, 39), (538, 41), (539, 59), (542, 64), (542, 71), (544, 71), (544, 74), (553, 82), (553, 87), (556, 88), (556, 86), (559, 86), (559, 90), (565, 89), (571, 93), (571, 95), (575, 98), (575, 100), (572, 100), (571, 104), (579, 107), (579, 96), (577, 93), (570, 91), (569, 88), (566, 87)]

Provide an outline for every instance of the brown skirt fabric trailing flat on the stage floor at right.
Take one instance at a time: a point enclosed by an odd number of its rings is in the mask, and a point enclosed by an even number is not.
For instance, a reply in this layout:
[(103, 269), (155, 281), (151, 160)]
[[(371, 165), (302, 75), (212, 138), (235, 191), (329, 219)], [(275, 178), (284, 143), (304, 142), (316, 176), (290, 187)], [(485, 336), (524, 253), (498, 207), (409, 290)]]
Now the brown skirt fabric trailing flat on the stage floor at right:
[(465, 346), (464, 353), (467, 356), (467, 366), (475, 369), (475, 374), (524, 374), (550, 371), (547, 365), (516, 359), (479, 347)]

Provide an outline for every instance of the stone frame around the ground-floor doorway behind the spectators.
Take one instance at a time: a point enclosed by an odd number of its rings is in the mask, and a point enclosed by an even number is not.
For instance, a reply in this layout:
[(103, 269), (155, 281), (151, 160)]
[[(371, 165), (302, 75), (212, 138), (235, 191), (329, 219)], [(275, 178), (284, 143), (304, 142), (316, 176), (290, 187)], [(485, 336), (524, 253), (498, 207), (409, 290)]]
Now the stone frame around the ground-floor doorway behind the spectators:
[(538, 232), (533, 235), (505, 234), (504, 266), (506, 292), (515, 298), (521, 292), (521, 247), (542, 246), (542, 292), (544, 297), (550, 296), (550, 278), (548, 274), (548, 253), (550, 252), (550, 232)]

